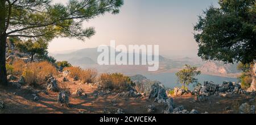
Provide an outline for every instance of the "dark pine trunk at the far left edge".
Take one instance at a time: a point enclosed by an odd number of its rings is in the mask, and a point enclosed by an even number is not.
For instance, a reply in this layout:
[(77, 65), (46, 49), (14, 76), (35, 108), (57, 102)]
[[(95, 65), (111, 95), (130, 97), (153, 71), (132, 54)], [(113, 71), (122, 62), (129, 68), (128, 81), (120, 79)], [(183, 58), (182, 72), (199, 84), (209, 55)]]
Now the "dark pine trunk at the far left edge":
[(6, 36), (0, 36), (0, 85), (7, 84), (7, 74), (5, 66)]

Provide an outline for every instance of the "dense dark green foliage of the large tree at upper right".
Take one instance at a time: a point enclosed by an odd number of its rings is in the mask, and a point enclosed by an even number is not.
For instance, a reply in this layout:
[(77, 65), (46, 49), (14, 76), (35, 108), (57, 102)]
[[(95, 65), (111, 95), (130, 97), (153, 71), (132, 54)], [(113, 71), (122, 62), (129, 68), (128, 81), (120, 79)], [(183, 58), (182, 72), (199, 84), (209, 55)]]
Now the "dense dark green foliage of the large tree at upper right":
[(204, 60), (243, 64), (256, 59), (255, 0), (220, 0), (210, 6), (194, 27), (195, 40)]

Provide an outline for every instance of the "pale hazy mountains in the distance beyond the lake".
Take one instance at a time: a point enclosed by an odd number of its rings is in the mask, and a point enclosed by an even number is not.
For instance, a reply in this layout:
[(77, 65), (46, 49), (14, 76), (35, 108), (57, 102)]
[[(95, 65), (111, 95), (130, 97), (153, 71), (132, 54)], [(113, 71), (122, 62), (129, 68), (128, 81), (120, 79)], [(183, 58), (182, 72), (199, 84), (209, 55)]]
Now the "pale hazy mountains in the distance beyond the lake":
[[(110, 49), (110, 48), (109, 48)], [(116, 52), (118, 55), (120, 52)], [(127, 53), (126, 53), (127, 54)], [(100, 52), (97, 48), (85, 48), (71, 53), (63, 53), (53, 55), (58, 61), (68, 61), (72, 65), (81, 66), (82, 68), (97, 68), (99, 72), (120, 72), (120, 73), (148, 73), (145, 65), (103, 65), (97, 64), (97, 58)], [(140, 55), (142, 56), (142, 55)], [(127, 55), (127, 57), (129, 57)], [(110, 59), (109, 59), (110, 60)], [(141, 62), (141, 61), (140, 61)], [(224, 64), (218, 61), (202, 61), (200, 58), (180, 57), (176, 59), (168, 59), (168, 57), (159, 55), (159, 70), (160, 72), (176, 72), (183, 68), (185, 64), (197, 66), (203, 73), (207, 74), (228, 74), (239, 73), (237, 64)]]

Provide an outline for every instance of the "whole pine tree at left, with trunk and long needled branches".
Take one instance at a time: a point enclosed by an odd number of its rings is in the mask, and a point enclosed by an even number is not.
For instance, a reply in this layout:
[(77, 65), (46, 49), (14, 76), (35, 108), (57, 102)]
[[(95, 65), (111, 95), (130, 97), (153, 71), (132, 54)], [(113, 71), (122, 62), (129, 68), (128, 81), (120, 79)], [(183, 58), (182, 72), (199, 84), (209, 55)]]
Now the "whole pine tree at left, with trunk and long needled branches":
[(51, 0), (0, 1), (0, 84), (6, 84), (6, 39), (51, 41), (56, 37), (85, 40), (95, 34), (94, 27), (82, 23), (106, 12), (117, 14), (123, 0), (69, 0), (67, 5)]

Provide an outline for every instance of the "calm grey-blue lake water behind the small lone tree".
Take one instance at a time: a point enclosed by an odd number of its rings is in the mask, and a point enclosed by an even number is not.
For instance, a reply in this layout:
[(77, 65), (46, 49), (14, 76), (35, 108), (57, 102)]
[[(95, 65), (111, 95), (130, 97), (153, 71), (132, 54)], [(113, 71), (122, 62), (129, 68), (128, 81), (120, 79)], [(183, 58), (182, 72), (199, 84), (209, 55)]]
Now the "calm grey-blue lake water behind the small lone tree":
[[(150, 80), (156, 80), (161, 82), (164, 86), (174, 88), (181, 87), (182, 85), (177, 82), (175, 73), (159, 73), (159, 74), (144, 74)], [(203, 85), (204, 81), (213, 81), (215, 84), (222, 84), (223, 81), (237, 82), (237, 78), (228, 78), (220, 76), (210, 76), (207, 74), (201, 74), (197, 76), (199, 82)], [(189, 89), (193, 89), (193, 85), (189, 85)]]

